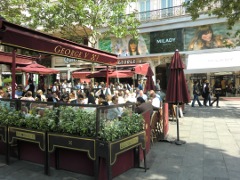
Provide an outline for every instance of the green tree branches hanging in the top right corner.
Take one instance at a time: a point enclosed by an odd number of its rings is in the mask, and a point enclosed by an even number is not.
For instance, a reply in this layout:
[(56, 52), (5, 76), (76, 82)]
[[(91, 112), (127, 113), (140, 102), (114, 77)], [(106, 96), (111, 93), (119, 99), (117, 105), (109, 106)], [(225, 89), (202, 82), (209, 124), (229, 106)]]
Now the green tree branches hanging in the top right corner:
[[(183, 5), (193, 20), (199, 18), (200, 14), (226, 18), (229, 29), (240, 20), (240, 3), (238, 0), (189, 0)], [(239, 35), (240, 31), (237, 31), (235, 36)]]

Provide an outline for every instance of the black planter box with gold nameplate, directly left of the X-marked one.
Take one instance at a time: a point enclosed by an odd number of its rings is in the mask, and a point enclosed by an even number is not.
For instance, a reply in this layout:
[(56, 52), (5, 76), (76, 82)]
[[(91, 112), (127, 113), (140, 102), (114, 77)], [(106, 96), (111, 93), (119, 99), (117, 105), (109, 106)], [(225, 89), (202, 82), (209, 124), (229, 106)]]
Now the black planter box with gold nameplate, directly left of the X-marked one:
[[(17, 127), (8, 127), (8, 146), (17, 144), (18, 158), (44, 164), (48, 174), (47, 133)], [(9, 154), (7, 155), (9, 160)]]

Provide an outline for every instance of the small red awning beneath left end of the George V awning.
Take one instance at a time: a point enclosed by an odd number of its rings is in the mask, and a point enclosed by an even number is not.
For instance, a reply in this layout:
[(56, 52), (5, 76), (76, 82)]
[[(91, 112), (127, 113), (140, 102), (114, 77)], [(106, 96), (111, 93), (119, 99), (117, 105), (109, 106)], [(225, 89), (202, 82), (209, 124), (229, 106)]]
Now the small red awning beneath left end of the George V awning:
[[(36, 60), (33, 57), (17, 55), (16, 64), (17, 65), (29, 65), (32, 61)], [(1, 64), (12, 64), (12, 53), (0, 52), (0, 63)]]

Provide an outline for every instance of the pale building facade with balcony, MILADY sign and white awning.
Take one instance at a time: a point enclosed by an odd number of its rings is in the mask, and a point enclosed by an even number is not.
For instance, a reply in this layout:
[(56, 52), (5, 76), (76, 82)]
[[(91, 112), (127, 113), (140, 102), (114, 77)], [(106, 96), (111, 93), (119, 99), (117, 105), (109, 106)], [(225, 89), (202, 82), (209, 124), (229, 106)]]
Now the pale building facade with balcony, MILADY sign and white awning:
[[(137, 41), (126, 37), (99, 40), (101, 50), (116, 53), (119, 64), (150, 63), (161, 88), (167, 88), (168, 66), (176, 49), (186, 65), (190, 92), (194, 81), (209, 80), (211, 86), (222, 84), (224, 96), (239, 96), (240, 47), (225, 19), (201, 15), (196, 21), (186, 13), (182, 0), (139, 0), (130, 4), (128, 12), (137, 9), (141, 22)], [(218, 4), (216, 4), (218, 5)], [(127, 13), (128, 13), (127, 12)], [(236, 45), (227, 48), (226, 45)]]

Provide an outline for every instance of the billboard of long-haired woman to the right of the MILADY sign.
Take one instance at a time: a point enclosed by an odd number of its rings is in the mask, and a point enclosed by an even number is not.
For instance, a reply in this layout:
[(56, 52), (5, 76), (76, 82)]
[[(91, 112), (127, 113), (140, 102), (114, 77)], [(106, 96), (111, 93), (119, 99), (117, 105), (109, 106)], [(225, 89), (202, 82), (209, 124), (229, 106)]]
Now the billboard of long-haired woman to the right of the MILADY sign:
[[(237, 43), (234, 33), (239, 29), (237, 23), (230, 31), (226, 23), (208, 24), (184, 29), (184, 50), (223, 48)], [(230, 34), (228, 34), (230, 33)]]

